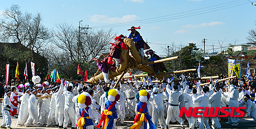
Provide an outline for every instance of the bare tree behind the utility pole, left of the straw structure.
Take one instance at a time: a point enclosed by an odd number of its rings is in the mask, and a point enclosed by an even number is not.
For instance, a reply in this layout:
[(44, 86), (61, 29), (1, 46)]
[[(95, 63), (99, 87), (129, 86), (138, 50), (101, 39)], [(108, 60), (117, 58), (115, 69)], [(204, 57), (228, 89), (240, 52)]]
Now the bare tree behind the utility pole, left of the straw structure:
[(109, 43), (114, 39), (112, 29), (87, 30), (86, 33), (80, 33), (78, 40), (78, 31), (72, 24), (59, 23), (56, 27), (55, 45), (77, 64), (92, 63), (93, 58), (109, 51)]

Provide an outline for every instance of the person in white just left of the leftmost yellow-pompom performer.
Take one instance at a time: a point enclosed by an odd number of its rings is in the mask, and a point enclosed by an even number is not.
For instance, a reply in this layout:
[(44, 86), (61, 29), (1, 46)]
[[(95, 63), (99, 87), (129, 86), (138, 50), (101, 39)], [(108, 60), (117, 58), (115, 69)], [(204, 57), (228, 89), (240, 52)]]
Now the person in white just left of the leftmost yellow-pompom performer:
[(75, 122), (75, 109), (74, 109), (74, 102), (72, 101), (74, 94), (72, 93), (72, 86), (69, 86), (67, 88), (67, 91), (63, 92), (63, 95), (65, 96), (65, 105), (64, 105), (64, 122), (63, 122), (63, 128), (68, 127), (69, 120), (71, 120), (72, 123), (72, 129), (76, 128), (76, 122)]

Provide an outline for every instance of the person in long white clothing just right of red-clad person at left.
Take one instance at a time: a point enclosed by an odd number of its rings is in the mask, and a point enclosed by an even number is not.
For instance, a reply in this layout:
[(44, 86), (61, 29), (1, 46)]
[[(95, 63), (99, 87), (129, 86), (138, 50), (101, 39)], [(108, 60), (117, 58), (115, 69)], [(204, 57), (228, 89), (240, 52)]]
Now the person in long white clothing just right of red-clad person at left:
[(29, 117), (28, 104), (29, 104), (30, 89), (25, 89), (24, 91), (25, 91), (25, 94), (22, 97), (22, 104), (20, 105), (19, 112), (18, 112), (18, 120), (17, 120), (18, 126), (24, 125)]

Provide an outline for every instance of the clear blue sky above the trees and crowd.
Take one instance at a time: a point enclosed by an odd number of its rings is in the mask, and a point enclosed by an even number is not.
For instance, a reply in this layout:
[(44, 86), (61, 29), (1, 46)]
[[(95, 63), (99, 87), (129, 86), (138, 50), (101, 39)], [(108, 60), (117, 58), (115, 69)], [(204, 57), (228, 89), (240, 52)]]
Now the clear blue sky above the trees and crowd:
[[(251, 1), (254, 2), (254, 1)], [(44, 17), (44, 25), (55, 29), (60, 22), (71, 23), (78, 27), (89, 25), (93, 29), (113, 28), (117, 35), (129, 36), (132, 25), (143, 39), (149, 43), (158, 55), (164, 55), (161, 47), (172, 42), (175, 46), (196, 43), (212, 52), (215, 48), (229, 43), (246, 43), (247, 31), (255, 28), (256, 6), (249, 1), (148, 1), (148, 0), (113, 0), (113, 1), (3, 1), (0, 11), (18, 4), (23, 12), (39, 12)], [(253, 4), (256, 4), (253, 3)], [(220, 49), (215, 49), (220, 51)]]

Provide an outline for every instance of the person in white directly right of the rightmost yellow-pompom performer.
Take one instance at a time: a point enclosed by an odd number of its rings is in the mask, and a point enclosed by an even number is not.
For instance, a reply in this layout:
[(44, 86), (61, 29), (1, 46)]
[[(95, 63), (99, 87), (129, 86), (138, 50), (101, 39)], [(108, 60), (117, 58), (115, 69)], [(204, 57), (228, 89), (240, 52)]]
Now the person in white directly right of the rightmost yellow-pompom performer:
[(158, 93), (158, 89), (156, 87), (153, 88), (153, 93), (151, 94), (151, 99), (153, 99), (153, 113), (152, 113), (152, 121), (155, 124), (156, 128), (158, 128), (158, 121), (161, 128), (164, 128), (164, 105), (163, 100), (167, 99), (165, 92)]

